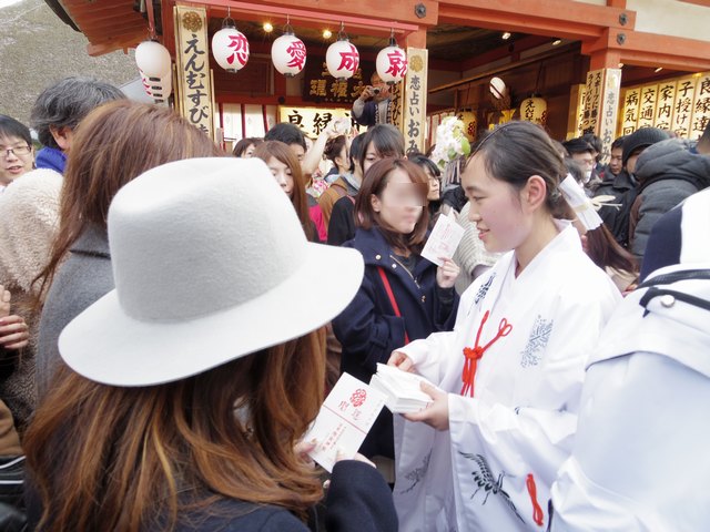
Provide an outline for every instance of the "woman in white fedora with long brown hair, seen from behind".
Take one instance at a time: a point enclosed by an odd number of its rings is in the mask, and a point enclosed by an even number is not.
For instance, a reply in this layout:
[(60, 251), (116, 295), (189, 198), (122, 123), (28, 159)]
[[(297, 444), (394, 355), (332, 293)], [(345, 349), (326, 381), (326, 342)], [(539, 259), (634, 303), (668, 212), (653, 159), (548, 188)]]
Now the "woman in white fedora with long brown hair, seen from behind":
[[(115, 195), (108, 232), (116, 288), (62, 331), (67, 366), (27, 436), (31, 530), (307, 532), (321, 325), (362, 259), (308, 243), (257, 160), (152, 168)], [(320, 295), (316, 268), (347, 280)], [(328, 530), (397, 530), (379, 473), (341, 458)]]

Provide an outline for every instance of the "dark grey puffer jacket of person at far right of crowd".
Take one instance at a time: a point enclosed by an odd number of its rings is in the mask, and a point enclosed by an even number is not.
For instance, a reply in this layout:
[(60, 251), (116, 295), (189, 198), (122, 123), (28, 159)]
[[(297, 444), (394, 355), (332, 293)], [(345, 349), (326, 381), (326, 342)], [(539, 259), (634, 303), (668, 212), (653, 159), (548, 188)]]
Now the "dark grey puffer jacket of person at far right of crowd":
[(639, 194), (631, 207), (631, 252), (643, 257), (653, 224), (688, 196), (710, 186), (710, 157), (690, 152), (687, 141), (670, 139), (649, 146), (638, 158)]

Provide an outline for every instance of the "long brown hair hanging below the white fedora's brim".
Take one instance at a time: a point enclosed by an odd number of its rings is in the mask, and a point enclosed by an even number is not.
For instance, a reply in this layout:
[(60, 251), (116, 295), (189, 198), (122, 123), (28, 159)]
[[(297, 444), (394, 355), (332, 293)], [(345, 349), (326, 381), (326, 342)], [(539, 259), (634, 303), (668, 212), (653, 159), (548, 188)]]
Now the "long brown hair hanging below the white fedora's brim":
[(62, 367), (23, 442), (38, 530), (171, 530), (221, 499), (303, 516), (323, 493), (293, 447), (321, 406), (324, 360), (318, 329), (151, 387), (100, 385)]

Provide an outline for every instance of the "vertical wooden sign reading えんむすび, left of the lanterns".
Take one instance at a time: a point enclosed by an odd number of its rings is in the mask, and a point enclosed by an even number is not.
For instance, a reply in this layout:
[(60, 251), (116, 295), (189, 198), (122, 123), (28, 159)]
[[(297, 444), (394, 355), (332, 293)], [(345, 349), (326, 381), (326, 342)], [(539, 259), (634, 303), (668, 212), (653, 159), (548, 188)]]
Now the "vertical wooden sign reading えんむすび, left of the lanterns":
[[(186, 6), (176, 6), (174, 10), (179, 109), (191, 124), (214, 140), (206, 11)], [(240, 59), (239, 54), (236, 59)]]

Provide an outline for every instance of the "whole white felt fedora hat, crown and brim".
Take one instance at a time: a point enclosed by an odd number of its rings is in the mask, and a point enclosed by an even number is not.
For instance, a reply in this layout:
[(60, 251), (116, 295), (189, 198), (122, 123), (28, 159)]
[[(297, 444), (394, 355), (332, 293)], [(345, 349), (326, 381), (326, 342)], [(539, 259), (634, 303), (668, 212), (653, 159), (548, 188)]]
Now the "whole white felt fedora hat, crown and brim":
[(179, 380), (303, 336), (363, 277), (356, 250), (306, 241), (257, 158), (152, 168), (116, 194), (108, 223), (115, 289), (59, 338), (74, 371), (106, 385)]

